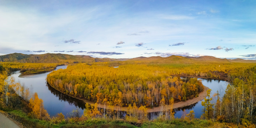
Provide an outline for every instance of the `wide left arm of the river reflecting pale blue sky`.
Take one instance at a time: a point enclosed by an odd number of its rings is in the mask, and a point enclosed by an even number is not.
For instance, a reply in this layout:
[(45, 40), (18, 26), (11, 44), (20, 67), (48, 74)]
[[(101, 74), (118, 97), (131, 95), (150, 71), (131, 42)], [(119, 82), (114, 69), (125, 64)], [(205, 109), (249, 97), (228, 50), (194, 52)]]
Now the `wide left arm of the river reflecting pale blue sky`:
[[(66, 69), (66, 67), (66, 65), (58, 66), (55, 70)], [(83, 108), (81, 108), (83, 106), (80, 105), (79, 107), (78, 105), (78, 103), (83, 103), (81, 100), (66, 96), (60, 92), (56, 93), (56, 91), (51, 91), (53, 90), (52, 87), (48, 86), (46, 82), (46, 77), (49, 73), (50, 72), (20, 78), (18, 77), (21, 74), (20, 71), (15, 71), (11, 76), (14, 76), (16, 82), (24, 83), (32, 94), (37, 92), (38, 97), (43, 100), (44, 108), (50, 116), (56, 116), (57, 113), (62, 112), (66, 117), (70, 112), (76, 109), (83, 113)]]

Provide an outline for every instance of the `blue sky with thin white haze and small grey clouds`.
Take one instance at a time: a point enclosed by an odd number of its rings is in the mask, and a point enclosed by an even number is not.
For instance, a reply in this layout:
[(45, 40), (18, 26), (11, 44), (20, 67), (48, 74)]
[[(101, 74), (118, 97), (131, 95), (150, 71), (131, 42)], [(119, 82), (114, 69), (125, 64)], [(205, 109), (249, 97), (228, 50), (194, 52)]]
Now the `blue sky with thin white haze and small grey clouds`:
[(255, 0), (0, 0), (0, 55), (256, 59)]

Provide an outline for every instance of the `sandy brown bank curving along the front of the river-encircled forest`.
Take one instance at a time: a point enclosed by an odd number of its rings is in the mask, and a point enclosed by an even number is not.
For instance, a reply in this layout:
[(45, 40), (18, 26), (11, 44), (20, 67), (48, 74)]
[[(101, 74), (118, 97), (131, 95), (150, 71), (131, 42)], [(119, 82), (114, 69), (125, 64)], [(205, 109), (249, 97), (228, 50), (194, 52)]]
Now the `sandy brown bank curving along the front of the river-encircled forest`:
[[(48, 84), (49, 84), (49, 83), (48, 83)], [(50, 84), (49, 84), (49, 85), (50, 85)], [(50, 86), (51, 86), (51, 85), (50, 85)], [(51, 87), (53, 87), (53, 86), (51, 86)], [(55, 87), (53, 87), (53, 88), (54, 88), (55, 90), (59, 91), (59, 90), (56, 89)], [(207, 90), (208, 90), (208, 89), (209, 89), (209, 87), (204, 86), (204, 90), (198, 94), (198, 97), (194, 97), (194, 98), (192, 98), (192, 99), (190, 99), (190, 100), (187, 100), (187, 101), (181, 101), (181, 102), (174, 103), (173, 109), (175, 109), (175, 108), (180, 108), (180, 107), (185, 107), (185, 106), (189, 106), (189, 105), (192, 105), (192, 104), (194, 104), (194, 103), (197, 103), (197, 102), (203, 100), (203, 99), (207, 96)], [(65, 93), (63, 93), (62, 91), (59, 91), (59, 92), (61, 92), (62, 94), (65, 94)], [(78, 100), (82, 100), (82, 101), (84, 101), (85, 103), (88, 103), (88, 104), (91, 105), (91, 106), (95, 106), (95, 103), (94, 103), (94, 102), (88, 101), (88, 100), (86, 100), (85, 98), (79, 98), (79, 97), (75, 97), (75, 96), (72, 96), (72, 95), (69, 95), (69, 94), (65, 94), (65, 95), (68, 95), (68, 96), (70, 96), (70, 97), (76, 98), (76, 99), (78, 99)], [(99, 108), (104, 108), (104, 105), (98, 104), (98, 107), (99, 107)], [(108, 108), (107, 105), (105, 106), (105, 108)], [(166, 107), (165, 107), (165, 108), (166, 108)], [(167, 108), (170, 108), (170, 105), (167, 105)], [(117, 108), (117, 107), (116, 107), (116, 108), (111, 108), (111, 109), (118, 111), (118, 108)], [(128, 110), (128, 107), (120, 107), (120, 108), (119, 108), (119, 111), (127, 111), (127, 110)], [(153, 107), (153, 108), (148, 108), (148, 109), (147, 109), (147, 112), (159, 112), (159, 111), (161, 111), (161, 107), (160, 107), (160, 106), (159, 106), (159, 107)]]

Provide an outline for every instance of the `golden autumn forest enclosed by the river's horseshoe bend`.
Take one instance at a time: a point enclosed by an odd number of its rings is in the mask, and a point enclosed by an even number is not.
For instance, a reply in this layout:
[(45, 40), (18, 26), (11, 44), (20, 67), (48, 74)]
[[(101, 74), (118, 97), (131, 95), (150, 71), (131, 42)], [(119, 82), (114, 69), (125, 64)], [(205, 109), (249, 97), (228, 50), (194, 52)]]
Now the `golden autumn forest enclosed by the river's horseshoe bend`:
[[(96, 102), (121, 100), (118, 106), (159, 106), (162, 98), (168, 103), (197, 97), (204, 86), (200, 80), (182, 80), (147, 65), (109, 66), (78, 64), (48, 74), (47, 81), (56, 89)], [(100, 95), (100, 96), (98, 96)], [(100, 99), (98, 99), (99, 97)], [(124, 105), (122, 105), (124, 104)]]

